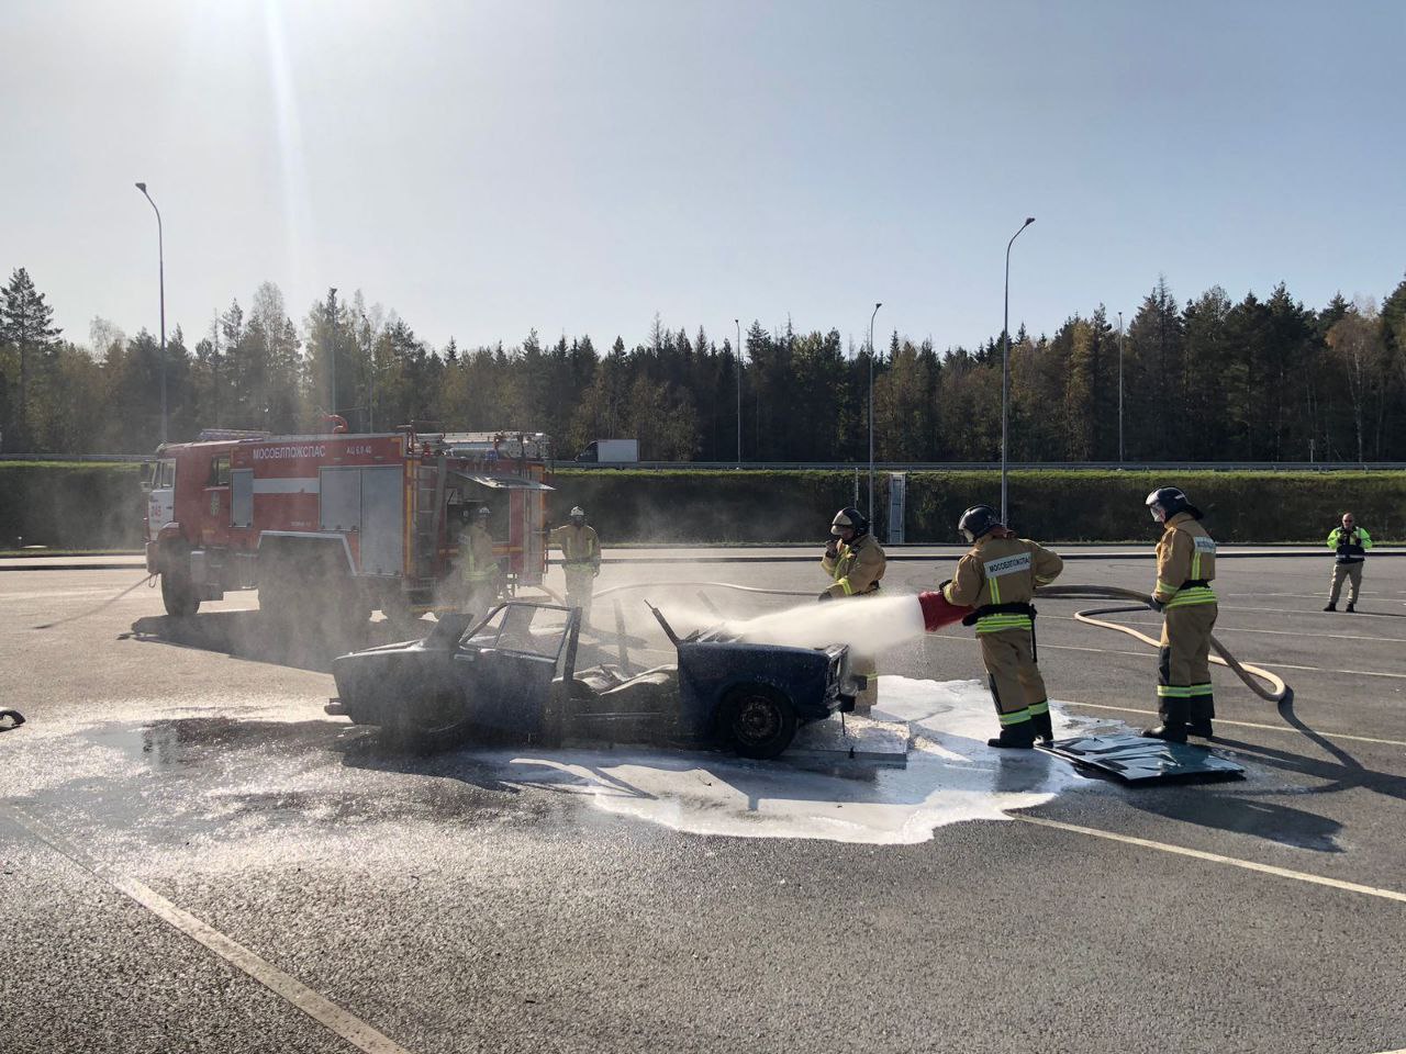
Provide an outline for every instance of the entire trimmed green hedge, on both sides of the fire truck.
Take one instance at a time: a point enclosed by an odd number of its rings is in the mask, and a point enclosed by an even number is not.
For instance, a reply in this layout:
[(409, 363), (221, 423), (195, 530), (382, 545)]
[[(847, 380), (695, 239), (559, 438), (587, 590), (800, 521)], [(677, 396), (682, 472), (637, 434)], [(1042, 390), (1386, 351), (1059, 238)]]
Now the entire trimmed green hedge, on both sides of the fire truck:
[[(139, 467), (0, 462), (0, 547), (138, 548)], [(1143, 507), (1154, 486), (1175, 483), (1226, 542), (1319, 542), (1344, 509), (1374, 538), (1406, 537), (1406, 472), (1012, 472), (1011, 520), (1046, 541), (1150, 541)], [(609, 544), (817, 541), (835, 510), (855, 500), (853, 472), (688, 472), (562, 469), (548, 517), (582, 505)], [(1000, 505), (997, 472), (910, 472), (910, 542), (956, 541), (962, 510)], [(859, 472), (860, 507), (868, 476)], [(889, 476), (875, 478), (877, 530), (886, 535)]]

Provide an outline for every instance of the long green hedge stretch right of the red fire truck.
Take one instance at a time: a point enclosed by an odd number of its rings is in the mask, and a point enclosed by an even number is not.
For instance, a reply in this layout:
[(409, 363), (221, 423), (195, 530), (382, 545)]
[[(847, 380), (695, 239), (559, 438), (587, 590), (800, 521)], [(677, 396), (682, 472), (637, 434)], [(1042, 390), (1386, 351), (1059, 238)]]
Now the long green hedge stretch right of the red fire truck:
[[(554, 523), (585, 506), (603, 540), (775, 542), (824, 538), (831, 517), (853, 502), (852, 472), (560, 471)], [(1206, 513), (1226, 542), (1322, 541), (1351, 509), (1374, 538), (1406, 537), (1406, 472), (1012, 472), (1012, 526), (1047, 541), (1144, 541), (1156, 528), (1149, 490), (1174, 483)], [(868, 476), (859, 474), (860, 507)], [(953, 542), (962, 512), (1000, 506), (998, 472), (910, 472), (908, 542)], [(889, 476), (875, 476), (877, 530), (886, 537)]]

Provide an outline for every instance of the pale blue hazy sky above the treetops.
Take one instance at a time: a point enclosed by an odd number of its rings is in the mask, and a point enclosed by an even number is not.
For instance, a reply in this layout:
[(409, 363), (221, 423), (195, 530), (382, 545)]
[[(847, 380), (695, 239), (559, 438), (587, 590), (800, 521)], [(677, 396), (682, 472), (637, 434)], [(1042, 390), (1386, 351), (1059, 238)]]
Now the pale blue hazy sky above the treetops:
[(1406, 3), (8, 0), (0, 267), (66, 334), (277, 282), (441, 346), (766, 326), (939, 347), (1406, 270)]

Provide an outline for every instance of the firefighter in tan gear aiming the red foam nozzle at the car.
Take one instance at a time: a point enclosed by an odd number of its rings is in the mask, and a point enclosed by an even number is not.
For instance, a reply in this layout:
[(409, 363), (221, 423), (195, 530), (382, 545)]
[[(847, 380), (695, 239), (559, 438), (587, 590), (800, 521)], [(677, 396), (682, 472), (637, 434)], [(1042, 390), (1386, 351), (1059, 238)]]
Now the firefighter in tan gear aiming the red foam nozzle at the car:
[(957, 561), (942, 596), (952, 604), (974, 607), (962, 620), (976, 625), (981, 663), (1001, 734), (988, 746), (1029, 750), (1036, 739), (1054, 738), (1049, 696), (1035, 646), (1035, 599), (1064, 569), (1059, 554), (1029, 538), (1015, 537), (988, 505), (974, 505), (957, 521), (972, 549)]

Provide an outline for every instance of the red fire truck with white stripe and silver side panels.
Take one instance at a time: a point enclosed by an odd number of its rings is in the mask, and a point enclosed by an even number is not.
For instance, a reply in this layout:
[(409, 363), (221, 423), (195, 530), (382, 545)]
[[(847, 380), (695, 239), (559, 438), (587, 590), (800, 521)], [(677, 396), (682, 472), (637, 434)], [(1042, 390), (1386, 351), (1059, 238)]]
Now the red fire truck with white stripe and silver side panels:
[(146, 569), (166, 611), (257, 589), (271, 618), (309, 604), (352, 627), (453, 603), (460, 524), (488, 506), (510, 589), (546, 571), (540, 433), (326, 436), (207, 430), (163, 444), (148, 482)]

